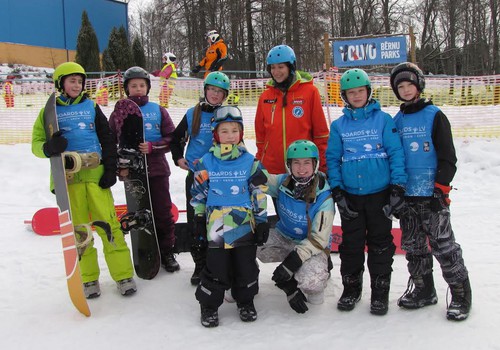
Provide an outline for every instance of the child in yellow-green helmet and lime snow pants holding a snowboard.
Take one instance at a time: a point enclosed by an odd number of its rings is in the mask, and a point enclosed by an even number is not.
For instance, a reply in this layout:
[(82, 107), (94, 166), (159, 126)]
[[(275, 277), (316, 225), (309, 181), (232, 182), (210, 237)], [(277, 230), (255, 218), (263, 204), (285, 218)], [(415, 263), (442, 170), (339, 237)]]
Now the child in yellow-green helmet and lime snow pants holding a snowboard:
[[(137, 290), (133, 279), (134, 268), (130, 250), (116, 218), (110, 189), (116, 183), (117, 154), (108, 119), (99, 105), (85, 94), (86, 74), (78, 63), (66, 62), (59, 65), (54, 71), (53, 79), (60, 92), (56, 106), (60, 132), (54, 133), (51, 139), (46, 139), (42, 109), (33, 126), (31, 150), (40, 158), (64, 151), (78, 152), (81, 157), (98, 155), (96, 162), (83, 167), (68, 181), (71, 217), (74, 225), (88, 224), (90, 217), (94, 221), (105, 221), (110, 225), (112, 243), (101, 228), (96, 228), (102, 239), (106, 263), (120, 293), (133, 294)], [(87, 299), (99, 297), (100, 270), (93, 240), (80, 258), (80, 270)]]

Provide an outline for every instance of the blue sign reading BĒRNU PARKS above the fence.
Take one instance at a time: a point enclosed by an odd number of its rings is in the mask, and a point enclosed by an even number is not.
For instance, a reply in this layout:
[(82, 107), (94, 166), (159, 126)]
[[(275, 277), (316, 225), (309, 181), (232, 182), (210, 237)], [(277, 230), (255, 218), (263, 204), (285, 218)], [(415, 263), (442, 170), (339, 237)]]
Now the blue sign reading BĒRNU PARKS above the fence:
[(406, 61), (406, 37), (365, 38), (333, 42), (337, 67), (394, 64)]

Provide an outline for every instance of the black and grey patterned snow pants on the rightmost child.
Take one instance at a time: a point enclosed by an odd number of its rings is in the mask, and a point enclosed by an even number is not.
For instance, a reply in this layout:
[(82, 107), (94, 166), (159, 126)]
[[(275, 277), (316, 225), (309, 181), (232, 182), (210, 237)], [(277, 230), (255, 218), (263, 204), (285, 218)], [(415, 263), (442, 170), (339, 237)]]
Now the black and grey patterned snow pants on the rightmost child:
[(448, 284), (463, 282), (468, 272), (451, 228), (450, 210), (433, 212), (428, 199), (406, 197), (406, 201), (400, 217), (401, 248), (406, 251), (410, 275), (432, 273), (434, 255)]

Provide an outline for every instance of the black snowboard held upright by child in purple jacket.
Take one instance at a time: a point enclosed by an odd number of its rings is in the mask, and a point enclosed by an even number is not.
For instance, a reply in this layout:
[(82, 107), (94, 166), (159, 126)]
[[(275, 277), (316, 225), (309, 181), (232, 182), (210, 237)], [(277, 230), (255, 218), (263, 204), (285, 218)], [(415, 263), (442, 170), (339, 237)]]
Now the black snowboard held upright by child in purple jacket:
[(139, 106), (128, 99), (116, 103), (113, 112), (118, 138), (119, 169), (128, 169), (123, 178), (128, 213), (121, 219), (122, 230), (130, 232), (137, 276), (154, 278), (161, 267), (160, 248), (149, 194), (147, 157), (139, 151), (144, 126)]

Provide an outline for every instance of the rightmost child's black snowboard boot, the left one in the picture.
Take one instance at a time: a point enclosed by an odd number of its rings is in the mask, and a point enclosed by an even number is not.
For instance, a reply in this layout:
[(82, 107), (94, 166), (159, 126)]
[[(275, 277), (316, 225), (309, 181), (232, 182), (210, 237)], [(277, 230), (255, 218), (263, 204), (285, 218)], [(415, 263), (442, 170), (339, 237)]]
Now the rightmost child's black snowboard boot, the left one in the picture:
[(435, 304), (437, 304), (437, 295), (432, 273), (410, 276), (406, 291), (398, 299), (398, 306), (404, 309), (420, 309)]

